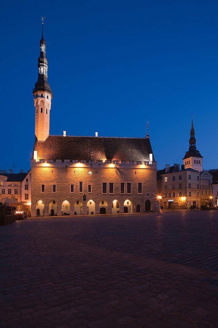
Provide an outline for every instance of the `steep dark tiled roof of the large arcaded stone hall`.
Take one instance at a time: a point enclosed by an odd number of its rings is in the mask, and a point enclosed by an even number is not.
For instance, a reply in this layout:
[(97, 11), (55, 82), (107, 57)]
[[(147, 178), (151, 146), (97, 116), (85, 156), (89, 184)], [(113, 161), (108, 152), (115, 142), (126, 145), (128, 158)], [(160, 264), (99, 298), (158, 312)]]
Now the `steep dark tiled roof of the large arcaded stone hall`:
[[(38, 159), (149, 161), (147, 138), (49, 135), (34, 144)], [(154, 160), (154, 157), (153, 157)]]

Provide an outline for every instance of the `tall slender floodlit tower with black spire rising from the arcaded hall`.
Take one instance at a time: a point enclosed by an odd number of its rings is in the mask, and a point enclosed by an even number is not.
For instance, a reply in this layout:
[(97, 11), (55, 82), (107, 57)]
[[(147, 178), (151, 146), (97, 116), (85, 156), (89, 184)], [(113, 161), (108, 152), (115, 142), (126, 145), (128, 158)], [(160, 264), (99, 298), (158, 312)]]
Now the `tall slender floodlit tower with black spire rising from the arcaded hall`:
[(45, 57), (45, 40), (40, 40), (40, 56), (38, 58), (38, 81), (33, 89), (35, 106), (35, 135), (39, 141), (45, 141), (49, 135), (49, 120), (52, 92), (47, 80), (48, 62)]

